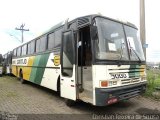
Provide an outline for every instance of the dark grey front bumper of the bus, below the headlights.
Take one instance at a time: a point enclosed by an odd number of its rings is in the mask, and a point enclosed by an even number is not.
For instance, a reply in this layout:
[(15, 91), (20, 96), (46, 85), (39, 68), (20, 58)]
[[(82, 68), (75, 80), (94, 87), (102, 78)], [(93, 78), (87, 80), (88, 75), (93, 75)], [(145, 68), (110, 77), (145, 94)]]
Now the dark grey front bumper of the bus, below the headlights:
[(111, 99), (116, 99), (113, 102), (135, 97), (146, 90), (147, 82), (134, 85), (121, 86), (117, 88), (95, 88), (96, 106), (106, 106), (112, 104)]

